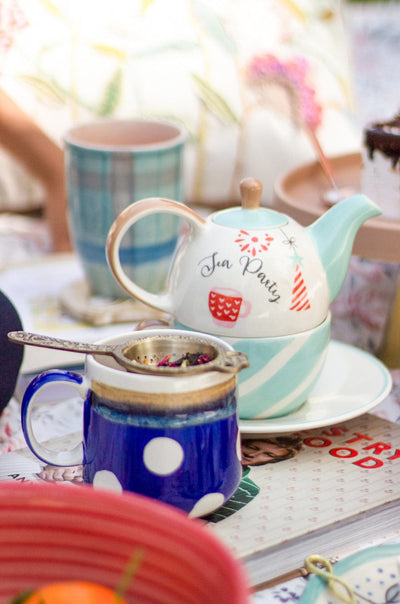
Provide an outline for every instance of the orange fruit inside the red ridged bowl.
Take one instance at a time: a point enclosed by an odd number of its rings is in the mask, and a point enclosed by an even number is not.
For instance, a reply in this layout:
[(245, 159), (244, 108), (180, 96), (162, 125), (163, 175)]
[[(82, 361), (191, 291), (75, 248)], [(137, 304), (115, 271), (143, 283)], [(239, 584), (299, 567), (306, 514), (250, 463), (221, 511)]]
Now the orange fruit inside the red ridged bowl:
[(31, 593), (24, 604), (127, 604), (108, 587), (89, 581), (49, 583)]

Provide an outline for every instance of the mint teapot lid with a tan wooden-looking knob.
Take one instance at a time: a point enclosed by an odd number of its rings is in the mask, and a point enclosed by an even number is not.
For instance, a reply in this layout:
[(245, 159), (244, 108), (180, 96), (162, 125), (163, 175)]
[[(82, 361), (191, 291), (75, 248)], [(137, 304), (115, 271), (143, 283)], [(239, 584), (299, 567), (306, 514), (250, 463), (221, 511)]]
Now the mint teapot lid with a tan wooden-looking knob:
[(240, 182), (240, 207), (215, 212), (213, 222), (221, 226), (240, 229), (265, 229), (283, 227), (288, 223), (285, 214), (269, 208), (260, 208), (262, 184), (256, 178), (244, 178)]

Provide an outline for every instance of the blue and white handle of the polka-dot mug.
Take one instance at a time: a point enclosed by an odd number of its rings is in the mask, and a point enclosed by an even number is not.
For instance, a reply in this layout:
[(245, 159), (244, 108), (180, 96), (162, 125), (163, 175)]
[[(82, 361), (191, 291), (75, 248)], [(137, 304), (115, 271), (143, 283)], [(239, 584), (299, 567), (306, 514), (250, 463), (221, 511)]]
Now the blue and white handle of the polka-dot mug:
[(55, 369), (36, 376), (28, 385), (21, 405), (22, 431), (28, 447), (42, 461), (52, 466), (77, 466), (83, 463), (83, 446), (79, 443), (70, 451), (54, 451), (39, 443), (32, 428), (32, 408), (41, 388), (51, 384), (68, 383), (84, 400), (88, 391), (86, 379), (79, 373)]

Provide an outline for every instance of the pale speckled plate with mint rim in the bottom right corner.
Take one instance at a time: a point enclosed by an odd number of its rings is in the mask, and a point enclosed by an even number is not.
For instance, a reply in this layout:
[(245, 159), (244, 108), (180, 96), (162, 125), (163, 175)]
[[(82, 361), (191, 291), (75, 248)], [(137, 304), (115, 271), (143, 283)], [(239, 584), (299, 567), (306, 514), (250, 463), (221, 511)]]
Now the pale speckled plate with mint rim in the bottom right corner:
[[(352, 589), (357, 604), (398, 602), (399, 555), (398, 544), (369, 547), (335, 564), (333, 572)], [(320, 577), (310, 579), (299, 600), (299, 604), (342, 603)]]

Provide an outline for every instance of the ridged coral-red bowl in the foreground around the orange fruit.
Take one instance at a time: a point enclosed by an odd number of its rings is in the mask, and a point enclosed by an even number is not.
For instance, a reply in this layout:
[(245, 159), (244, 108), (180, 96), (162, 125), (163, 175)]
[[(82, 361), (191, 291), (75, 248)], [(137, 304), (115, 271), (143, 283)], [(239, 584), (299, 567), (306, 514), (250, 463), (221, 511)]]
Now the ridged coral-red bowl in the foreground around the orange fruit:
[(115, 588), (143, 558), (132, 604), (246, 604), (241, 564), (200, 521), (166, 504), (89, 486), (0, 484), (0, 603), (50, 581)]

